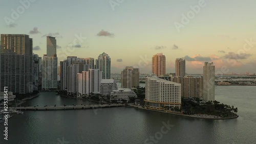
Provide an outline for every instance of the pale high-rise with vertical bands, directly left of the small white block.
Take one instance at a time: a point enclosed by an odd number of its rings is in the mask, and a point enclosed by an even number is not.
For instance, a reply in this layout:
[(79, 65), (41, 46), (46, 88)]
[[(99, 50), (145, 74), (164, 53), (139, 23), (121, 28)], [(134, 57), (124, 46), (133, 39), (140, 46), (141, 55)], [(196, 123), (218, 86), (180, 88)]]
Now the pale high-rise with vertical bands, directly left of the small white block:
[(100, 92), (100, 82), (102, 71), (99, 69), (89, 69), (77, 74), (77, 97)]

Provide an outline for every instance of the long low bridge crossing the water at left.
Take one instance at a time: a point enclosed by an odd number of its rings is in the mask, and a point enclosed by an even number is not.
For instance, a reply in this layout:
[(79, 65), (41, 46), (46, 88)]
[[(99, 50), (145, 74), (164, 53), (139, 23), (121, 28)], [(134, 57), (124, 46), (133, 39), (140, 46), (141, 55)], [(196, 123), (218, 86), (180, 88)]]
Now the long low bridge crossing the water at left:
[(122, 107), (122, 104), (103, 104), (103, 105), (74, 105), (74, 106), (44, 106), (44, 107), (11, 107), (15, 110), (79, 110), (79, 109), (97, 109), (97, 108), (111, 108)]

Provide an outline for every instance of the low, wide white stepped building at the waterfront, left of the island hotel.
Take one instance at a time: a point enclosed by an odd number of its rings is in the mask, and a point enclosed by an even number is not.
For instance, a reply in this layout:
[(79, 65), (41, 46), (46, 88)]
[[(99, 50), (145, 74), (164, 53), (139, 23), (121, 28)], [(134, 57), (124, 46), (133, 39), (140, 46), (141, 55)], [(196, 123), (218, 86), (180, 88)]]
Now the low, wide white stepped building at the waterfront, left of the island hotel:
[(118, 89), (111, 92), (110, 101), (116, 99), (118, 101), (125, 99), (129, 101), (129, 97), (137, 97), (136, 93), (131, 89)]

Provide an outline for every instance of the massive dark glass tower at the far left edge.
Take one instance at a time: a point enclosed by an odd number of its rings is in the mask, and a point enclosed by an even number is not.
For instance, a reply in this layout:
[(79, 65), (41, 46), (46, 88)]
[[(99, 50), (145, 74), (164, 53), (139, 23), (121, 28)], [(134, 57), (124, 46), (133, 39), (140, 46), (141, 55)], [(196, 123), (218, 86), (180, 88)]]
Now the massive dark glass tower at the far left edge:
[(26, 94), (33, 91), (33, 39), (26, 34), (1, 34), (0, 90)]

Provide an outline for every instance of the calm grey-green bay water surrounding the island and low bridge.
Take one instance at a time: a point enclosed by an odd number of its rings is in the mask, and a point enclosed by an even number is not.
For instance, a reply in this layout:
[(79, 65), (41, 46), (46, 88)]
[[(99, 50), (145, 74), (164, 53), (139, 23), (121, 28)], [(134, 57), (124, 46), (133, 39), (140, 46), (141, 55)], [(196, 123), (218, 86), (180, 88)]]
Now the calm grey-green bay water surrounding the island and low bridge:
[[(4, 126), (1, 124), (0, 143), (144, 143), (160, 132), (164, 126), (162, 122), (167, 121), (174, 127), (155, 143), (256, 143), (255, 89), (253, 86), (216, 87), (216, 100), (239, 108), (239, 118), (228, 120), (195, 119), (126, 107), (25, 111), (9, 119), (8, 141), (3, 139)], [(42, 92), (24, 105), (64, 104), (95, 102)]]

